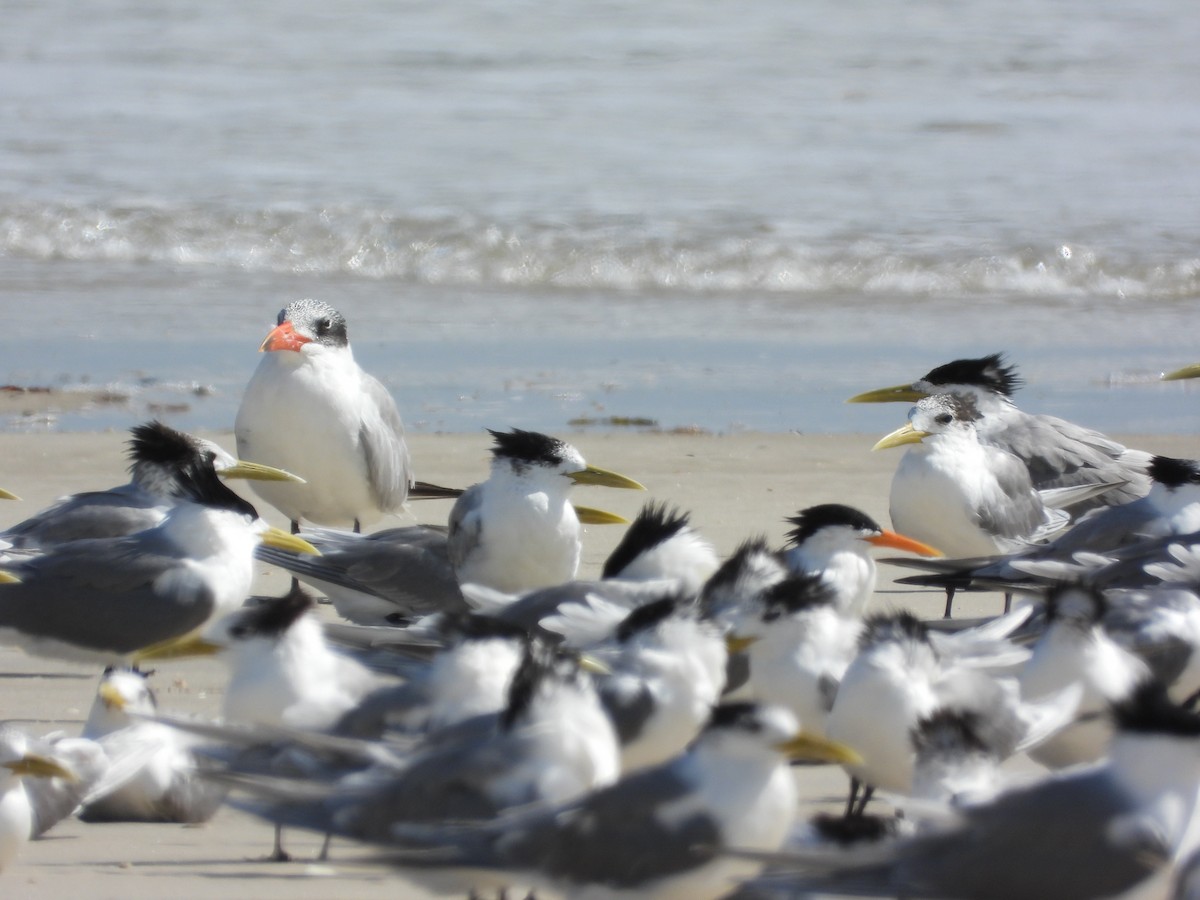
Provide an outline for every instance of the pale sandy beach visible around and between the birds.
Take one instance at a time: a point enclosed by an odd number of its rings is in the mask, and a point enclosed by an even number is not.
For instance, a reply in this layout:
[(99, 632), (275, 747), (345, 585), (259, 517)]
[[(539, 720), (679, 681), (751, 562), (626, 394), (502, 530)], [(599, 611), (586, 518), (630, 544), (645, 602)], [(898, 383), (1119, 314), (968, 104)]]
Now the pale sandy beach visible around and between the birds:
[[(208, 437), (233, 446), (230, 433)], [(648, 499), (691, 512), (696, 527), (727, 554), (745, 538), (766, 534), (774, 542), (787, 530), (785, 517), (816, 503), (857, 506), (887, 524), (887, 497), (896, 451), (870, 452), (878, 436), (737, 434), (564, 434), (587, 460), (641, 480), (648, 493), (581, 488), (580, 503), (626, 517)], [(125, 439), (120, 432), (0, 436), (0, 486), (23, 499), (0, 506), (0, 523), (35, 512), (54, 498), (102, 488), (125, 480)], [(1195, 456), (1186, 437), (1133, 436), (1130, 446), (1174, 456)], [(486, 434), (415, 436), (410, 448), (418, 475), (466, 486), (485, 476)], [(444, 502), (412, 504), (412, 518), (444, 522)], [(260, 511), (284, 524), (274, 510)], [(392, 520), (380, 526), (400, 524)], [(595, 575), (619, 539), (618, 528), (592, 528), (581, 576)], [(877, 608), (905, 606), (938, 616), (942, 595), (896, 587), (900, 572), (881, 568)], [(265, 566), (257, 590), (277, 593), (284, 584)], [(955, 604), (964, 617), (998, 608), (995, 595), (973, 595)], [(323, 607), (331, 614), (329, 607)], [(4, 716), (32, 733), (80, 728), (98, 672), (88, 666), (0, 650)], [(154, 684), (160, 704), (172, 712), (216, 715), (224, 671), (218, 661), (173, 662), (158, 667)], [(845, 790), (840, 772), (799, 773), (810, 798)], [(362, 865), (370, 851), (335, 842), (331, 860), (317, 865), (316, 835), (290, 833), (287, 845), (296, 862), (262, 862), (270, 850), (270, 827), (229, 809), (200, 827), (170, 824), (83, 824), (71, 820), (47, 838), (28, 845), (0, 878), (8, 898), (396, 898), (415, 890), (391, 871)], [(336, 884), (335, 884), (336, 882)]]

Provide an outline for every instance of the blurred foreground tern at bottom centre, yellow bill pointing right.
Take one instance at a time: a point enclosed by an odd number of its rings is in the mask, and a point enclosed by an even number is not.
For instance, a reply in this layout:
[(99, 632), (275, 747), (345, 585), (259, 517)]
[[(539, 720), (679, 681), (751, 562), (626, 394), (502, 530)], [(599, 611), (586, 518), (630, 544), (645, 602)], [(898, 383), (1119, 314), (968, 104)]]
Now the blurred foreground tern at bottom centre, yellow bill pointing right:
[[(431, 878), (446, 871), (457, 883), (535, 884), (569, 896), (706, 900), (761, 868), (725, 857), (725, 848), (774, 850), (787, 836), (797, 804), (788, 758), (845, 762), (853, 752), (799, 732), (785, 709), (726, 704), (683, 755), (575, 802), (478, 824), (424, 824), (397, 821), (386, 796), (364, 791), (331, 796), (332, 815), (311, 800), (292, 804), (290, 815), (310, 827), (332, 818)], [(269, 809), (288, 806), (280, 796), (265, 802)]]

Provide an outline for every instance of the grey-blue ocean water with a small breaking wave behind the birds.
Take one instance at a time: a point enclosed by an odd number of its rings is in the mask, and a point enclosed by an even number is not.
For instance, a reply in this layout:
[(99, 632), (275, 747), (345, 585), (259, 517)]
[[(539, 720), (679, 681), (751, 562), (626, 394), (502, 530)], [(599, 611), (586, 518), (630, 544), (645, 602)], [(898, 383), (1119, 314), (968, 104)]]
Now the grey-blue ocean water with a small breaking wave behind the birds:
[[(6, 0), (7, 428), (227, 427), (338, 306), (408, 426), (888, 431), (1021, 404), (1188, 433), (1194, 0)], [(49, 404), (55, 406), (55, 404)], [(653, 424), (653, 425), (648, 425)]]

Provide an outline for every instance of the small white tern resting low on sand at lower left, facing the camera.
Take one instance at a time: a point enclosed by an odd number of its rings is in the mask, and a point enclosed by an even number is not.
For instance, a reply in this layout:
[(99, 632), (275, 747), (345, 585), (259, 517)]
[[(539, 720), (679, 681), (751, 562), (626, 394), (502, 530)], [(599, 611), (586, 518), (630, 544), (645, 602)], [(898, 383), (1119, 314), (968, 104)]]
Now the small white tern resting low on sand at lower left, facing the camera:
[(224, 788), (196, 773), (194, 740), (152, 718), (158, 710), (145, 672), (108, 668), (96, 688), (83, 737), (94, 740), (109, 772), (92, 790), (84, 822), (206, 822)]

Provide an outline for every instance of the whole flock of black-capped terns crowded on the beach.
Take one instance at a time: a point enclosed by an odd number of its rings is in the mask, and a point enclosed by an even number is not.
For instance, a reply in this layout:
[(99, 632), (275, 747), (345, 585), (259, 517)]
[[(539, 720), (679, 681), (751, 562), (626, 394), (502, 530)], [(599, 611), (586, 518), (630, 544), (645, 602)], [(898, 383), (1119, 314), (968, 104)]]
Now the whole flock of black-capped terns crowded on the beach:
[[(852, 398), (913, 404), (876, 445), (907, 448), (895, 532), (823, 504), (721, 559), (648, 503), (576, 581), (581, 522), (624, 520), (572, 485), (640, 484), (521, 430), (480, 484), (415, 481), (336, 310), (289, 304), (260, 350), (241, 458), (139, 425), (130, 484), (0, 533), (0, 638), (107, 666), (78, 737), (0, 730), (0, 868), (70, 815), (233, 803), (274, 858), (305, 828), (473, 895), (1200, 896), (1200, 463), (956, 360)], [(444, 527), (361, 533), (421, 497), (456, 497)], [(877, 547), (943, 620), (870, 608)], [(292, 589), (251, 598), (256, 558)], [(979, 589), (1020, 601), (952, 618)], [(220, 720), (160, 710), (139, 668), (194, 653), (228, 664)], [(799, 802), (811, 764), (844, 806)]]

